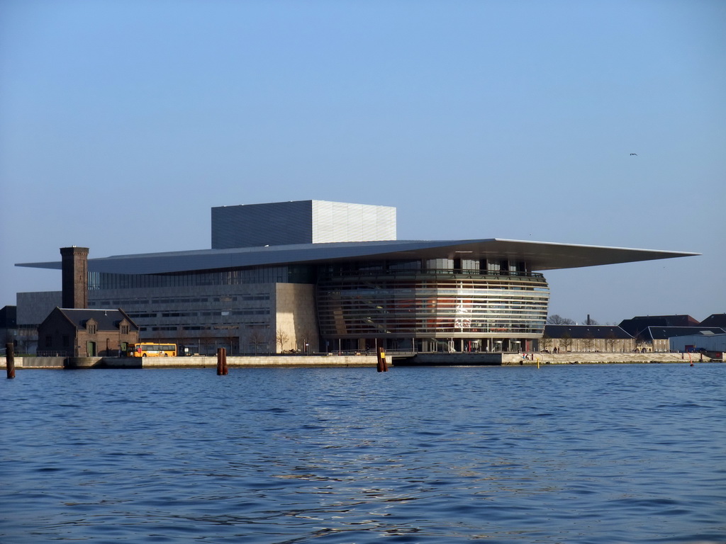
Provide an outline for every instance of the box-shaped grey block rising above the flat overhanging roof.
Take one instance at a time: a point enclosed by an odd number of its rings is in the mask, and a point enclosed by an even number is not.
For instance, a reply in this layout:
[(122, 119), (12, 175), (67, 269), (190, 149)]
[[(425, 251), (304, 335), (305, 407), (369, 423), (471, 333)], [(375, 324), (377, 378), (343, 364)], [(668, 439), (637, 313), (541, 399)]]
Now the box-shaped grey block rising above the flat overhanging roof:
[(212, 208), (212, 249), (396, 239), (396, 208), (300, 200)]

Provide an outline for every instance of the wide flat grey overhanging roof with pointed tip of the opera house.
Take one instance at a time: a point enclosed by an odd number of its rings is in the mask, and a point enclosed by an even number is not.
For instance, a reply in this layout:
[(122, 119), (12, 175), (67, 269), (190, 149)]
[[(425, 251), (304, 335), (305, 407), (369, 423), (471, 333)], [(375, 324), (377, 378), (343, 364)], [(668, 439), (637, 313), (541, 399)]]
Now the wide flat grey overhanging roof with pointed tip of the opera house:
[[(335, 261), (486, 258), (523, 260), (529, 263), (532, 271), (544, 271), (693, 255), (699, 254), (498, 238), (433, 242), (386, 240), (114, 255), (89, 259), (88, 269), (89, 272), (163, 274)], [(61, 262), (59, 260), (49, 263), (18, 263), (17, 266), (60, 270)]]

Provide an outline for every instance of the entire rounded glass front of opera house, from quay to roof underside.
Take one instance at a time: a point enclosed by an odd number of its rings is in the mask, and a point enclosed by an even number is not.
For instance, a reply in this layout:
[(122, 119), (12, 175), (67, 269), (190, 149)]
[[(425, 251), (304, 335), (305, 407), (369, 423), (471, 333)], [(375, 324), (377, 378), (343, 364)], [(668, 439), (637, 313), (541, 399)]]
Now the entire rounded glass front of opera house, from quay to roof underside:
[(320, 335), (342, 349), (536, 349), (550, 290), (526, 263), (409, 260), (319, 268)]

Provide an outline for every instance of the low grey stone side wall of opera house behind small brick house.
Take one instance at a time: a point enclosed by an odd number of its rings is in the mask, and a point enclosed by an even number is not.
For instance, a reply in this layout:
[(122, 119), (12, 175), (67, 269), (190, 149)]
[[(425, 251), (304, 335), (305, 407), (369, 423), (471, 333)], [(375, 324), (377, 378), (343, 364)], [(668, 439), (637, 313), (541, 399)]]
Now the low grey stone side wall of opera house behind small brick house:
[[(18, 323), (23, 336), (19, 347), (34, 353), (36, 326), (61, 306), (62, 293), (17, 294)], [(314, 286), (277, 282), (155, 287), (139, 289), (91, 289), (89, 308), (121, 308), (139, 326), (139, 339), (168, 341), (192, 347), (193, 353), (213, 355), (217, 347), (231, 353), (276, 353), (277, 331), (287, 334), (286, 350), (319, 349)], [(280, 322), (278, 323), (278, 320)], [(22, 345), (20, 345), (22, 344)]]

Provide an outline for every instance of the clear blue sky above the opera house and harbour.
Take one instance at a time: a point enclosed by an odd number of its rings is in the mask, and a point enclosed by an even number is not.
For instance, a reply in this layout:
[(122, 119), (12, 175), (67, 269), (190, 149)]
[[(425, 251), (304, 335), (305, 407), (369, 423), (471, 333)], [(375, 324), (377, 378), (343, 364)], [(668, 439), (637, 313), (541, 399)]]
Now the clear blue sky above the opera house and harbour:
[[(546, 274), (550, 313), (726, 312), (726, 2), (4, 0), (15, 263), (210, 246), (210, 208), (395, 206), (399, 239), (701, 252)], [(637, 153), (631, 156), (630, 153)]]

